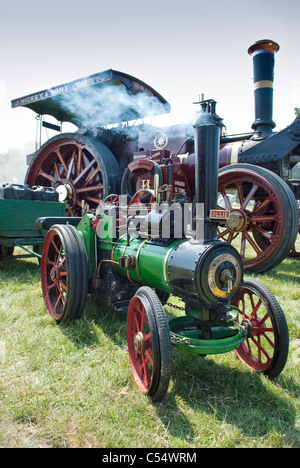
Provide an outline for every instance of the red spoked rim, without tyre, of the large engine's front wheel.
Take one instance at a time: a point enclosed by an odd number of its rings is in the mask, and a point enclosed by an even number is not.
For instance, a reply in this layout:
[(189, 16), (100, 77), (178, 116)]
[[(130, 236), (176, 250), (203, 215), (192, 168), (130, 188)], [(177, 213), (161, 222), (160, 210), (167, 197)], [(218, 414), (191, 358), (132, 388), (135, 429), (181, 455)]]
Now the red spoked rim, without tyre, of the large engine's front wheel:
[[(223, 205), (219, 198), (218, 208), (237, 219), (220, 225), (218, 238), (239, 250), (246, 271), (265, 264), (280, 248), (285, 232), (284, 206), (276, 188), (255, 172), (241, 169), (221, 173), (218, 191)], [(234, 195), (234, 202), (229, 195)]]

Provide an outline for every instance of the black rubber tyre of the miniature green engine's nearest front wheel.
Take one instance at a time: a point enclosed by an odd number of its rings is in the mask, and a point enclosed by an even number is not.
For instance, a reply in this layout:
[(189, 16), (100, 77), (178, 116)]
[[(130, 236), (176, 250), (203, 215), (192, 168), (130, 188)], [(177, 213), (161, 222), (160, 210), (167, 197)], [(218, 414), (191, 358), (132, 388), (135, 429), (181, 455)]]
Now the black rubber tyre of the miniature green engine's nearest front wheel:
[[(135, 294), (146, 310), (154, 350), (154, 368), (148, 395), (153, 401), (162, 401), (171, 378), (172, 346), (169, 324), (160, 300), (153, 289), (142, 286)], [(129, 343), (130, 340), (128, 340)], [(134, 350), (129, 349), (129, 353)]]

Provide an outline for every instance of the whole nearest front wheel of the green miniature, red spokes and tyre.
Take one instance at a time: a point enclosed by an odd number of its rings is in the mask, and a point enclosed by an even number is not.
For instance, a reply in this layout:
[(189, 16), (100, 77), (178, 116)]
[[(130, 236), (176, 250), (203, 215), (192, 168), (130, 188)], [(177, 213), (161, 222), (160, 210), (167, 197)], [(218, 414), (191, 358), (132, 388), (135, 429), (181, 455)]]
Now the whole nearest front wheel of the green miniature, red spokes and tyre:
[(148, 286), (142, 286), (130, 301), (127, 341), (137, 386), (161, 401), (171, 377), (170, 330), (161, 302)]

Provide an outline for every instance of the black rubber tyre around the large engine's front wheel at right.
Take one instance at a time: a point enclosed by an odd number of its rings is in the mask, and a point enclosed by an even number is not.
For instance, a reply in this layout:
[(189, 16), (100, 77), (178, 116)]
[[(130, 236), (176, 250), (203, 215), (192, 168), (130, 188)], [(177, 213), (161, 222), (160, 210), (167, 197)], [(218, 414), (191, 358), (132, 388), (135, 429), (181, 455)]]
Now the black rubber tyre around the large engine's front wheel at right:
[[(238, 177), (239, 172), (240, 177)], [(257, 235), (254, 235), (254, 238), (257, 242), (259, 248), (265, 252), (265, 260), (255, 261), (250, 260), (245, 261), (245, 271), (251, 273), (263, 273), (265, 271), (271, 270), (279, 263), (281, 263), (291, 251), (299, 230), (299, 210), (297, 207), (297, 202), (295, 200), (294, 194), (292, 193), (289, 186), (282, 180), (277, 174), (269, 171), (260, 166), (255, 166), (253, 164), (233, 164), (231, 166), (223, 167), (219, 169), (219, 180), (224, 177), (226, 174), (228, 179), (230, 179), (230, 174), (233, 177), (237, 177), (240, 181), (243, 181), (243, 172), (255, 173), (260, 180), (265, 179), (269, 184), (274, 188), (277, 196), (280, 198), (283, 205), (283, 212), (280, 213), (282, 216), (282, 229), (283, 235), (280, 241), (277, 241), (276, 248), (273, 248), (270, 253), (268, 253), (268, 245), (263, 245)], [(261, 190), (261, 189), (259, 189)]]

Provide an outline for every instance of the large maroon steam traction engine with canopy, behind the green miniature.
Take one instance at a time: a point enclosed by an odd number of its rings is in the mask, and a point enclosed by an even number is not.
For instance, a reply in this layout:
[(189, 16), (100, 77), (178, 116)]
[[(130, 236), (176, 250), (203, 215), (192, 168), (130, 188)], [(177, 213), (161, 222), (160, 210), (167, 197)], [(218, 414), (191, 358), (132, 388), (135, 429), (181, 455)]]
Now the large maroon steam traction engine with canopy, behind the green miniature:
[[(273, 133), (278, 49), (269, 40), (249, 48), (254, 131), (221, 135), (219, 142), (218, 208), (230, 215), (220, 220), (218, 238), (233, 243), (245, 270), (256, 273), (273, 268), (289, 254), (299, 229), (299, 180), (293, 168), (300, 161), (300, 119)], [(45, 114), (78, 126), (75, 133), (48, 140), (29, 158), (25, 180), (30, 186), (56, 187), (70, 216), (81, 215), (83, 203), (96, 209), (110, 194), (126, 194), (130, 200), (141, 189), (153, 190), (155, 175), (161, 185), (171, 185), (172, 197), (184, 192), (188, 202), (195, 201), (192, 124), (159, 128), (133, 123), (170, 110), (165, 99), (140, 80), (108, 70), (16, 99), (12, 106), (33, 109), (41, 128), (61, 129), (45, 122)]]

